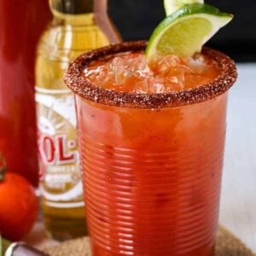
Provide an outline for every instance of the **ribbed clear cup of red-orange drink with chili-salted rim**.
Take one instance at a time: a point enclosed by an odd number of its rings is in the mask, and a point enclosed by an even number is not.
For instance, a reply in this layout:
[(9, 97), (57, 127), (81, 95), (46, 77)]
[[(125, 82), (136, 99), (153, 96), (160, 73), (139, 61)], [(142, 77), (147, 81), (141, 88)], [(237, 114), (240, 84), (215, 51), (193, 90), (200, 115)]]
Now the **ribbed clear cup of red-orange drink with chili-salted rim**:
[[(115, 76), (112, 86), (102, 83), (104, 72), (100, 85), (90, 82), (96, 78), (87, 72), (92, 74), (96, 65), (98, 70), (107, 67), (108, 55), (137, 52), (144, 46), (143, 42), (114, 45), (82, 55), (65, 78), (75, 92), (93, 255), (212, 256), (227, 90), (236, 81), (236, 67), (227, 56), (204, 49), (202, 56), (212, 61), (212, 72), (201, 73), (210, 79), (201, 86), (187, 87), (186, 81), (193, 82), (198, 75), (192, 69), (183, 73), (182, 90), (172, 90), (168, 82), (166, 91), (152, 92), (159, 79), (154, 71), (151, 79), (156, 80), (142, 92), (140, 83), (148, 75), (135, 73), (145, 67), (134, 69), (130, 92), (118, 86), (129, 84), (131, 73), (124, 83), (117, 83), (121, 75), (114, 73), (118, 79)], [(96, 62), (90, 65), (91, 61)], [(124, 66), (119, 62), (116, 67)], [(109, 69), (105, 74), (108, 80), (114, 77)]]

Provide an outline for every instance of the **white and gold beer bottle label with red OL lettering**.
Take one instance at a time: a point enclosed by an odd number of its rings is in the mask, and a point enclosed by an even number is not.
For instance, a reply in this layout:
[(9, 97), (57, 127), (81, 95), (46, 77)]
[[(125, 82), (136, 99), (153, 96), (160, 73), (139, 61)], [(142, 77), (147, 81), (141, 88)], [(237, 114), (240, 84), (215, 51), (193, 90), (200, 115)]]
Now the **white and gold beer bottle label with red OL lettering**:
[(70, 90), (36, 87), (40, 189), (49, 207), (83, 207), (76, 116)]

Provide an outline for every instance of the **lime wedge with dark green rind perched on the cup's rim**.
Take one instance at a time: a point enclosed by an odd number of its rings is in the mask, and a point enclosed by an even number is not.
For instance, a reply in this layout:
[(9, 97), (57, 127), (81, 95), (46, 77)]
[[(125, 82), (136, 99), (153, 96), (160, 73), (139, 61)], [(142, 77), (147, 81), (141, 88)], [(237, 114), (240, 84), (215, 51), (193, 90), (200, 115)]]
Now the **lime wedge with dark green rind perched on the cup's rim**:
[(209, 4), (183, 6), (154, 30), (146, 49), (148, 61), (161, 55), (186, 58), (201, 52), (202, 45), (232, 18), (233, 15), (222, 13)]

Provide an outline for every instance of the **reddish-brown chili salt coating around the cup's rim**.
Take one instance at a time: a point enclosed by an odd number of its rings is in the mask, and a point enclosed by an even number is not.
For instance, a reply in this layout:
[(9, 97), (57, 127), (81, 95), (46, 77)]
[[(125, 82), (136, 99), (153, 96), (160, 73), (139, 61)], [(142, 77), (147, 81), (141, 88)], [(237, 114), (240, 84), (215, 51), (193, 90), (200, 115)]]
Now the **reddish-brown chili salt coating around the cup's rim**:
[(224, 94), (236, 82), (235, 62), (227, 55), (206, 47), (202, 49), (202, 53), (218, 62), (220, 74), (211, 82), (194, 89), (160, 94), (137, 94), (103, 89), (83, 78), (84, 68), (91, 61), (118, 53), (143, 50), (146, 45), (146, 41), (126, 42), (109, 45), (80, 55), (68, 67), (64, 81), (73, 90), (74, 94), (79, 95), (85, 100), (123, 108), (168, 108), (205, 102)]

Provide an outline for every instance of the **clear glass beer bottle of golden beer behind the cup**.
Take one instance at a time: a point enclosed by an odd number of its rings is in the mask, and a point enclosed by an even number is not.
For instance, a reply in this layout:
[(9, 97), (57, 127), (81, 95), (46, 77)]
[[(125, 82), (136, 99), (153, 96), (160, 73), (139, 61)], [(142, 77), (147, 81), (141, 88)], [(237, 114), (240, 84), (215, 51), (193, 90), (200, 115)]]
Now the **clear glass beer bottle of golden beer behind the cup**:
[(50, 0), (54, 15), (38, 45), (36, 102), (44, 224), (66, 240), (87, 234), (73, 94), (63, 82), (70, 61), (119, 42), (107, 0)]

